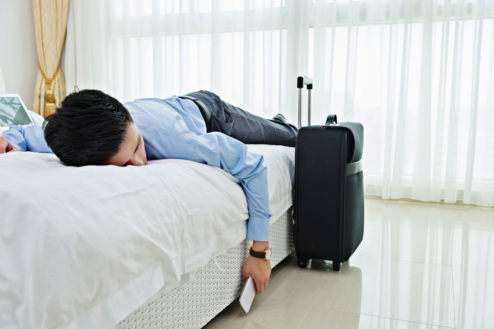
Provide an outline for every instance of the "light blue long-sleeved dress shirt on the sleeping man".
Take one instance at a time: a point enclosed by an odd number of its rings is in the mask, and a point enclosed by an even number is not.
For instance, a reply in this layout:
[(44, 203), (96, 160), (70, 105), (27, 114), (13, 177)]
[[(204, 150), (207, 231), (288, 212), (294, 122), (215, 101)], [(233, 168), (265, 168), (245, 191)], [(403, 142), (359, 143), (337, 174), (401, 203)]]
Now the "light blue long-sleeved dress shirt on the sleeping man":
[[(185, 159), (218, 167), (238, 178), (247, 199), (247, 239), (269, 240), (267, 169), (261, 154), (223, 133), (206, 133), (206, 124), (194, 102), (172, 96), (139, 99), (124, 104), (139, 129), (148, 160)], [(41, 126), (11, 125), (5, 137), (21, 151), (52, 153)]]

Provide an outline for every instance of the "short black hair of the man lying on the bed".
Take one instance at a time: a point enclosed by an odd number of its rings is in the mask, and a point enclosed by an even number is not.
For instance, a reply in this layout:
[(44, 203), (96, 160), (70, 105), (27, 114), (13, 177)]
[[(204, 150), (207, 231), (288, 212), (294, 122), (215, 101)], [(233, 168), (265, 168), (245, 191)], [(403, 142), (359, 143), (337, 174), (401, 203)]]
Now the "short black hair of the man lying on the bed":
[(44, 139), (68, 166), (105, 165), (133, 123), (124, 105), (100, 90), (68, 95), (43, 123)]

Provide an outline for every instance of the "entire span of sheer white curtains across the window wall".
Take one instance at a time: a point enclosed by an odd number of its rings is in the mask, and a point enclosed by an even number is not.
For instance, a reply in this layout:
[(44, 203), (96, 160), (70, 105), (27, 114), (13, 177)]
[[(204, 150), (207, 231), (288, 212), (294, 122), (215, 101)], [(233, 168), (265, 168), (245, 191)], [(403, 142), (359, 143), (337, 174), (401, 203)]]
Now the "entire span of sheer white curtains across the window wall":
[(205, 89), (296, 122), (308, 74), (312, 124), (365, 127), (366, 194), (494, 206), (493, 13), (494, 0), (73, 0), (67, 86), (121, 101)]

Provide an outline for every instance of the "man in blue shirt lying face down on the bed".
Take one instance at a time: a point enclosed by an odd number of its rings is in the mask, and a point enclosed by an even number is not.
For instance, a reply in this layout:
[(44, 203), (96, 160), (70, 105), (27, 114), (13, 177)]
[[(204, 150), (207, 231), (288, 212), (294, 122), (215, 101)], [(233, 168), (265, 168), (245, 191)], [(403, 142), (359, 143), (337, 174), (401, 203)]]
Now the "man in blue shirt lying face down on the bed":
[[(176, 96), (140, 99), (124, 105), (99, 90), (70, 94), (41, 126), (10, 126), (0, 137), (0, 153), (55, 153), (68, 166), (142, 166), (148, 159), (185, 159), (219, 167), (242, 183), (252, 253), (243, 268), (256, 294), (271, 275), (267, 170), (263, 156), (245, 144), (295, 146), (297, 128), (282, 114), (272, 120), (223, 102), (209, 91), (187, 94), (206, 106)], [(207, 121), (207, 129), (206, 129)], [(245, 143), (245, 144), (244, 144)], [(266, 253), (267, 252), (267, 255)], [(260, 254), (262, 253), (262, 254)], [(254, 254), (254, 255), (252, 255)], [(269, 257), (267, 257), (269, 258)]]

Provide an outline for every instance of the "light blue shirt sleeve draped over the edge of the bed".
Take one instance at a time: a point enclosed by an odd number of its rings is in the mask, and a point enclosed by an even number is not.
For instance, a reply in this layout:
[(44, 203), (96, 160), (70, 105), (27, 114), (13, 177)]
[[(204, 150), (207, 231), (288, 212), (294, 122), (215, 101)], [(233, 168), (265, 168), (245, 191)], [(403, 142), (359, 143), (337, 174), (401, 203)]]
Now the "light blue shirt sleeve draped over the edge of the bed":
[(195, 135), (196, 146), (191, 160), (219, 167), (242, 183), (247, 199), (249, 219), (247, 239), (269, 241), (269, 209), (267, 168), (261, 154), (247, 151), (247, 146), (223, 133)]

